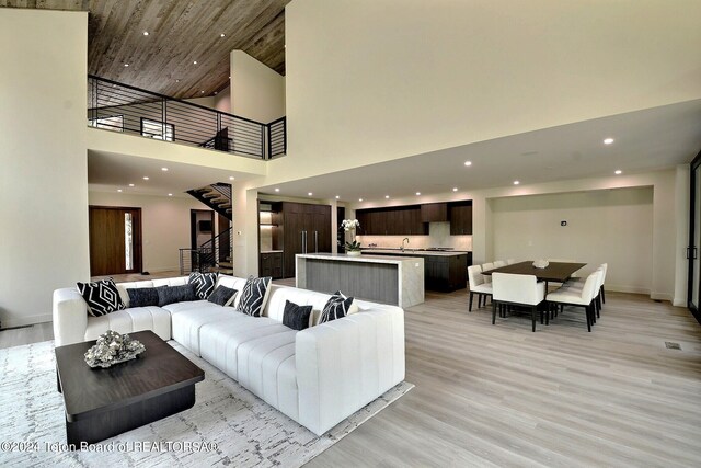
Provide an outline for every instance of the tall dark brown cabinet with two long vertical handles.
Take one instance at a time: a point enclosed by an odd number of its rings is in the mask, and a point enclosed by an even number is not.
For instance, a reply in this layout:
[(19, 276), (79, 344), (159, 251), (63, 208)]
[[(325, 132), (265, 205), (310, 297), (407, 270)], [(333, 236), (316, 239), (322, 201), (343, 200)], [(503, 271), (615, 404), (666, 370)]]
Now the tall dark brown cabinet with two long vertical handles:
[(295, 255), (331, 252), (331, 206), (283, 202), (284, 277), (294, 277)]

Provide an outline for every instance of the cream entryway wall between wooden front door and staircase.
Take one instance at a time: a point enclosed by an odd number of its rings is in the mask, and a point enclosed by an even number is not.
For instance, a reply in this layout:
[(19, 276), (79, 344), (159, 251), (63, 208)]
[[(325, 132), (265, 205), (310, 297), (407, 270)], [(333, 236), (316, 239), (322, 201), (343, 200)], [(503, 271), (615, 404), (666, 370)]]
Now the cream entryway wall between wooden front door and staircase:
[[(195, 198), (90, 192), (90, 205), (141, 208), (141, 242), (146, 272), (180, 269), (179, 249), (189, 249), (189, 210), (208, 209)], [(216, 217), (215, 217), (216, 218)]]

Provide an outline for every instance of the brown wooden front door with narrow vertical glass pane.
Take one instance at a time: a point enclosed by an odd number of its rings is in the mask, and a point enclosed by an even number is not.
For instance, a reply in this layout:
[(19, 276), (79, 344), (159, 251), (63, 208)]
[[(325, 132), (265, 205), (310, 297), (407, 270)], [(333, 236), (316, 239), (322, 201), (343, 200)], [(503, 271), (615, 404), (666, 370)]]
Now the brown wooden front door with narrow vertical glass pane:
[(141, 271), (141, 208), (90, 206), (90, 275)]

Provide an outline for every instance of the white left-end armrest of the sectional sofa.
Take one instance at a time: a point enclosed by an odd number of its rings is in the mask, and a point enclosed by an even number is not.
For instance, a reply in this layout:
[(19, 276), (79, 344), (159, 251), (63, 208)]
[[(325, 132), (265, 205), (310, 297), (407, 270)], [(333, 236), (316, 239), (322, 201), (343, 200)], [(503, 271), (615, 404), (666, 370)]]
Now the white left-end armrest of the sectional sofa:
[(85, 341), (88, 304), (76, 288), (54, 292), (54, 343), (56, 346)]

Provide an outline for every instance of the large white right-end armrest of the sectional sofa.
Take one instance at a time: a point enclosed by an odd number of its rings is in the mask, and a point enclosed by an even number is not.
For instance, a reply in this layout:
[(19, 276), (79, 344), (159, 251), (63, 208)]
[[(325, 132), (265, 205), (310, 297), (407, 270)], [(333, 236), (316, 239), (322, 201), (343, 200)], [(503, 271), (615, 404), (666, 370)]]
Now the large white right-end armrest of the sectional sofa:
[(372, 309), (297, 333), (299, 422), (323, 434), (404, 380), (404, 310)]

